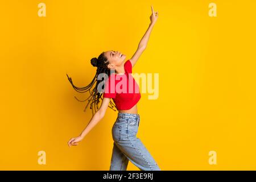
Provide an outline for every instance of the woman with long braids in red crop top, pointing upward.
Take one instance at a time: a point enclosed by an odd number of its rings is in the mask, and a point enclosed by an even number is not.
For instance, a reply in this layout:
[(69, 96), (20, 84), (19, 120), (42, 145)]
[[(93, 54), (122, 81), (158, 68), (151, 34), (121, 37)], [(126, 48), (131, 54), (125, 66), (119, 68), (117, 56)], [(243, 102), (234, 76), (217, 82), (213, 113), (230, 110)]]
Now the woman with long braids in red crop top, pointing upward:
[[(92, 119), (82, 131), (82, 133), (75, 138), (71, 138), (68, 142), (68, 146), (76, 146), (79, 144), (82, 139), (89, 133), (90, 130), (93, 129), (94, 126), (104, 117), (106, 109), (111, 105), (110, 108), (113, 109), (115, 106), (118, 109), (118, 116), (112, 128), (112, 136), (114, 140), (113, 151), (112, 151), (112, 159), (110, 164), (110, 170), (126, 170), (127, 164), (130, 160), (135, 166), (144, 171), (152, 171), (158, 170), (158, 164), (155, 162), (154, 158), (150, 155), (150, 152), (147, 151), (146, 147), (144, 147), (143, 143), (139, 138), (136, 137), (138, 132), (138, 126), (140, 117), (137, 110), (137, 103), (141, 98), (141, 94), (139, 92), (135, 93), (135, 89), (138, 89), (138, 85), (135, 82), (134, 78), (130, 73), (132, 72), (132, 68), (137, 62), (139, 56), (141, 56), (142, 52), (147, 46), (148, 39), (150, 37), (152, 28), (154, 27), (156, 20), (158, 19), (158, 12), (154, 12), (153, 7), (151, 6), (152, 14), (150, 16), (150, 25), (147, 28), (146, 33), (144, 34), (141, 42), (139, 42), (139, 46), (137, 51), (134, 53), (131, 59), (126, 60), (126, 55), (123, 55), (118, 51), (106, 51), (102, 52), (98, 58), (94, 57), (91, 60), (91, 63), (94, 67), (97, 67), (96, 75), (93, 78), (93, 81), (84, 88), (79, 88), (72, 83), (72, 79), (70, 77), (69, 81), (71, 82), (74, 89), (77, 92), (87, 92), (90, 91), (90, 97), (87, 98), (88, 104), (90, 101), (90, 109), (92, 109), (93, 114)], [(111, 71), (114, 71), (112, 74)], [(101, 80), (98, 80), (98, 76), (100, 75), (110, 76), (105, 78), (104, 85), (104, 93), (103, 100), (101, 98), (102, 92), (98, 90), (100, 88), (99, 84)], [(111, 82), (111, 76), (114, 77), (114, 82)], [(126, 79), (127, 78), (127, 79)], [(128, 92), (117, 92), (118, 80), (126, 80), (125, 83), (126, 89), (131, 86), (131, 90)], [(113, 80), (112, 80), (113, 81)], [(133, 81), (133, 85), (131, 85), (131, 81)], [(92, 90), (90, 90), (94, 83), (96, 82), (96, 86)], [(111, 92), (114, 83), (114, 92)], [(106, 86), (106, 87), (105, 87)], [(134, 86), (134, 87), (133, 87)], [(121, 87), (120, 87), (121, 88)], [(125, 87), (122, 86), (122, 90)], [(128, 89), (127, 89), (128, 90)], [(126, 90), (126, 91), (127, 91)], [(112, 101), (114, 101), (114, 104)], [(102, 104), (98, 109), (98, 103), (102, 100)], [(86, 105), (86, 107), (88, 106)], [(85, 108), (86, 108), (85, 107)]]

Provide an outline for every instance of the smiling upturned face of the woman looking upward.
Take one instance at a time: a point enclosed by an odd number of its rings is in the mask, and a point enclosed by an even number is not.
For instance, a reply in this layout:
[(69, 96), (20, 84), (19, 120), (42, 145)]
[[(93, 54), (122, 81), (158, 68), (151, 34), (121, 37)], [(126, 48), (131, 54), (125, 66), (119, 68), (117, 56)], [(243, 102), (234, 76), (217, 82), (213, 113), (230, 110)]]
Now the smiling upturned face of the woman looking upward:
[(106, 51), (104, 53), (106, 58), (109, 60), (109, 69), (114, 69), (115, 67), (119, 67), (120, 65), (123, 64), (123, 62), (126, 59), (126, 55), (123, 55), (121, 52), (118, 51)]

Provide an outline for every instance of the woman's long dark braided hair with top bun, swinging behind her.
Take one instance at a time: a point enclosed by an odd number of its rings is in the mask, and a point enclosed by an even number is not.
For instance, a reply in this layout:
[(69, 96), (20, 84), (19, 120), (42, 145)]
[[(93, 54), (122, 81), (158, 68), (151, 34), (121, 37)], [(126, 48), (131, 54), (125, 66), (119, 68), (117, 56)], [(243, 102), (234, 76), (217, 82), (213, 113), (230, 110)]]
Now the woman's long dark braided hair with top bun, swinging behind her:
[[(72, 82), (72, 78), (68, 76), (68, 80), (69, 82), (71, 82), (71, 85), (73, 86), (73, 88), (80, 93), (84, 93), (84, 92), (88, 92), (90, 93), (90, 96), (88, 98), (86, 98), (85, 100), (79, 100), (76, 96), (76, 100), (80, 101), (80, 102), (85, 102), (88, 101), (88, 103), (85, 106), (84, 111), (86, 110), (86, 108), (88, 107), (88, 105), (90, 104), (90, 109), (92, 109), (92, 114), (96, 113), (96, 111), (99, 109), (98, 108), (98, 104), (100, 102), (100, 100), (102, 101), (102, 92), (98, 92), (98, 84), (100, 84), (100, 82), (102, 80), (98, 80), (97, 77), (100, 73), (106, 73), (106, 75), (110, 76), (110, 69), (108, 68), (108, 64), (109, 61), (106, 58), (106, 56), (104, 55), (104, 52), (102, 52), (100, 54), (100, 56), (97, 57), (93, 57), (90, 60), (90, 63), (93, 65), (93, 67), (97, 67), (97, 71), (95, 76), (93, 77), (93, 80), (90, 82), (89, 85), (85, 86), (85, 87), (77, 87), (73, 84)], [(102, 79), (104, 79), (104, 81), (106, 81), (106, 78), (103, 77)], [(96, 82), (96, 85), (93, 86)], [(104, 84), (105, 86), (105, 84)], [(103, 88), (104, 90), (105, 88)], [(110, 106), (111, 109), (113, 109), (114, 111), (116, 111), (113, 107), (115, 107), (117, 109), (117, 107), (115, 106), (114, 102), (112, 102), (112, 100), (110, 100)]]

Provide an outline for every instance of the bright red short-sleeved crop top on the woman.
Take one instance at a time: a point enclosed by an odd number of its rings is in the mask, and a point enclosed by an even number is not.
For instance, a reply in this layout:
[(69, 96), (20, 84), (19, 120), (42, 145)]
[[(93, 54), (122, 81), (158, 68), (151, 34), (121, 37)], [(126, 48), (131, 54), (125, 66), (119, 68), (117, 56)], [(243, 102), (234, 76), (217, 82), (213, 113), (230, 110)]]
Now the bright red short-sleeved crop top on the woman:
[[(131, 61), (127, 60), (124, 64), (125, 74), (110, 74), (106, 80), (106, 88), (103, 97), (112, 98), (118, 110), (129, 110), (141, 98), (139, 86), (131, 75)], [(110, 86), (109, 86), (110, 85)]]

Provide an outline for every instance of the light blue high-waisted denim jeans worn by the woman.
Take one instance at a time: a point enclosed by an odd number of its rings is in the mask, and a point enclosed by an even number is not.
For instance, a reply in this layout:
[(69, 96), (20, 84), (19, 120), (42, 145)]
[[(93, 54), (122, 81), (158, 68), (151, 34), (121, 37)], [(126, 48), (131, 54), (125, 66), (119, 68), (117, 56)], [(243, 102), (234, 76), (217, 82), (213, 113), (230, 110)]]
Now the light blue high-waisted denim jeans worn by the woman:
[(137, 138), (139, 114), (118, 113), (112, 127), (114, 140), (110, 171), (126, 171), (130, 160), (141, 171), (160, 171), (158, 164)]

